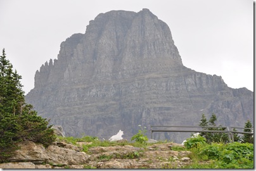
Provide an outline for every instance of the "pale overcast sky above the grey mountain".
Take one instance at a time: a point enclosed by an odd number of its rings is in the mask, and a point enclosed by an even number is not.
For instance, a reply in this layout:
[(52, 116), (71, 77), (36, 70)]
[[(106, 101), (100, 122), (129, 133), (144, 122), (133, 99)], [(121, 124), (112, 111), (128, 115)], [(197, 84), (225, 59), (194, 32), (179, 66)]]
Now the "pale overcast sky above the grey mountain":
[(252, 0), (0, 0), (0, 49), (27, 93), (36, 70), (57, 58), (61, 42), (85, 33), (99, 13), (143, 8), (169, 25), (184, 66), (253, 91)]

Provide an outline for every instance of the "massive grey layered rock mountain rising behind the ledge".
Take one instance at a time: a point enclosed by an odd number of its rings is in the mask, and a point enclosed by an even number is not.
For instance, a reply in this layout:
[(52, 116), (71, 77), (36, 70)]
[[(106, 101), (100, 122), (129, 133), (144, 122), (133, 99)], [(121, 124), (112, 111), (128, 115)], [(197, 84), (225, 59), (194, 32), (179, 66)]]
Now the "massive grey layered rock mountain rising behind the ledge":
[(121, 129), (129, 138), (139, 124), (198, 125), (202, 113), (225, 126), (253, 120), (253, 92), (183, 66), (168, 25), (148, 9), (96, 16), (35, 73), (25, 99), (67, 136), (108, 139)]

